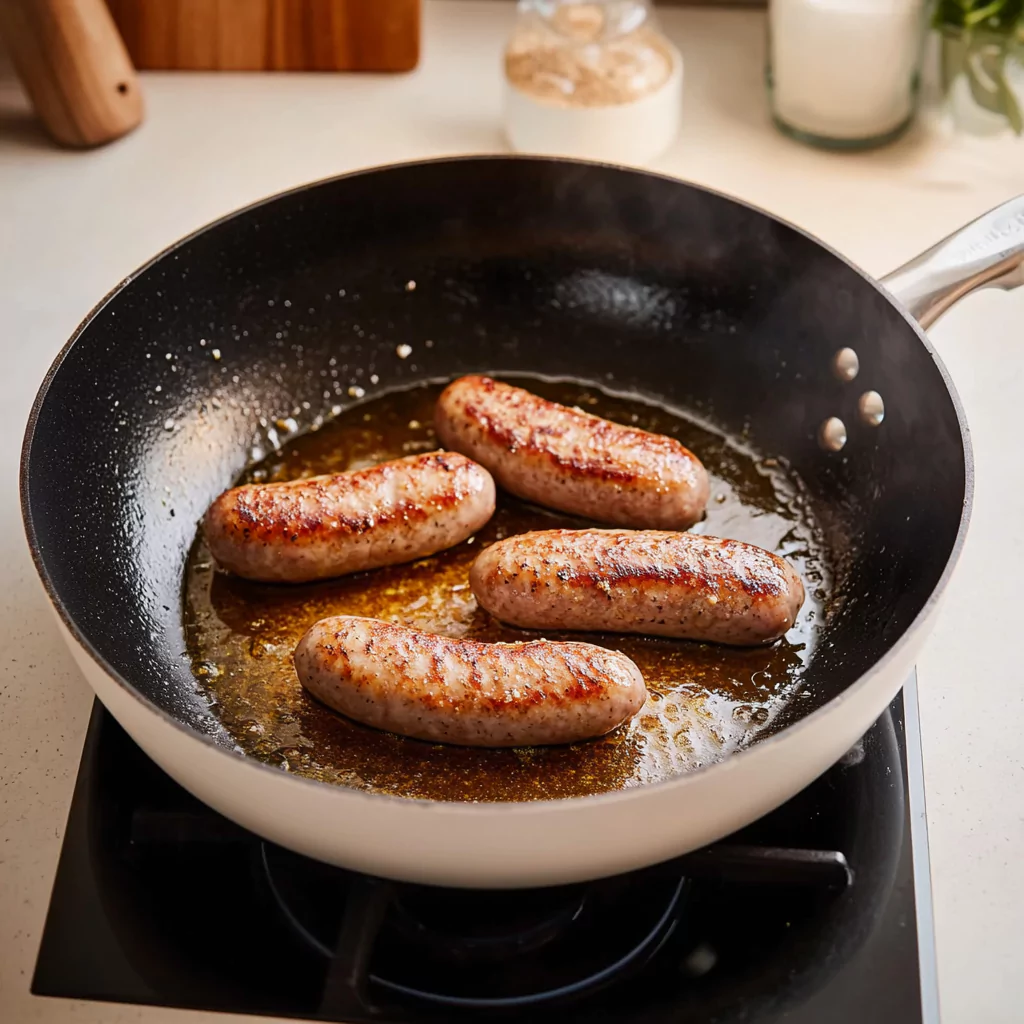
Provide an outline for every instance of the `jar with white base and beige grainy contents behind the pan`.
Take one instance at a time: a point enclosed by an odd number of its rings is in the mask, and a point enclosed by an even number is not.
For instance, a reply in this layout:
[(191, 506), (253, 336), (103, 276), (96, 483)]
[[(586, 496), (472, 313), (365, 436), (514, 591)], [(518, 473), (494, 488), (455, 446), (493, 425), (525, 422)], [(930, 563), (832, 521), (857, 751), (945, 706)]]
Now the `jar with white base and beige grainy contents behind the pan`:
[(505, 128), (524, 153), (644, 164), (672, 144), (683, 61), (646, 0), (520, 0)]

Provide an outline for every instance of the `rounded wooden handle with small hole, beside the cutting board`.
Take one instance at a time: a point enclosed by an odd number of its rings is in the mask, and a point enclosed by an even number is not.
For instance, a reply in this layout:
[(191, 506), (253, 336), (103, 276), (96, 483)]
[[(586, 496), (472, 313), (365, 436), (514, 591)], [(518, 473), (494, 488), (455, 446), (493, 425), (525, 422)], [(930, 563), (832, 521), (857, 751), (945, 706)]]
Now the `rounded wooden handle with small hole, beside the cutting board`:
[(142, 120), (138, 78), (103, 0), (0, 0), (0, 33), (58, 142), (99, 145)]

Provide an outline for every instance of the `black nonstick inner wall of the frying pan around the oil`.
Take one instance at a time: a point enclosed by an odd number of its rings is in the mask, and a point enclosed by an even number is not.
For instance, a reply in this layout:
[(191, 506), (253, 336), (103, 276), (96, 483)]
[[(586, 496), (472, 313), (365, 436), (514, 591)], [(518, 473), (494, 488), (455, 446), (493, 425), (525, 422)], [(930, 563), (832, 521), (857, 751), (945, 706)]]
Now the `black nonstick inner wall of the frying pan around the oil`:
[[(855, 382), (833, 371), (846, 346)], [(66, 623), (164, 712), (232, 745), (185, 651), (197, 520), (252, 460), (362, 391), (478, 371), (591, 381), (787, 461), (836, 587), (804, 673), (811, 696), (779, 727), (892, 647), (953, 550), (957, 412), (922, 336), (872, 282), (794, 228), (678, 181), (440, 161), (228, 217), (81, 328), (24, 455), (30, 540)], [(857, 415), (868, 389), (885, 400), (879, 427)], [(830, 416), (849, 431), (841, 453), (817, 440)]]

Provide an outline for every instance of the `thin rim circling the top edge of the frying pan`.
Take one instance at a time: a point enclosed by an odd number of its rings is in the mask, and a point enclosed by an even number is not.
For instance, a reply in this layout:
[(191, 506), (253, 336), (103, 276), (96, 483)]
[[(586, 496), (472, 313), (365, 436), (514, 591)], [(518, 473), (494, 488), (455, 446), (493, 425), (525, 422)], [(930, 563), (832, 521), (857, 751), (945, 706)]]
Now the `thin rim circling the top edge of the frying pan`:
[[(774, 223), (780, 224), (790, 230), (795, 231), (801, 237), (807, 239), (808, 241), (819, 246), (821, 249), (825, 250), (835, 259), (839, 260), (842, 264), (856, 273), (859, 278), (865, 281), (869, 286), (871, 286), (879, 294), (881, 294), (891, 306), (899, 313), (899, 315), (906, 323), (907, 327), (914, 332), (918, 341), (924, 345), (925, 350), (928, 352), (929, 356), (932, 358), (939, 371), (942, 378), (942, 382), (945, 385), (946, 392), (949, 395), (950, 400), (953, 404), (953, 410), (956, 414), (956, 421), (959, 426), (961, 431), (961, 443), (964, 450), (964, 505), (961, 512), (959, 524), (956, 530), (956, 536), (953, 540), (952, 548), (950, 549), (949, 555), (946, 559), (946, 563), (942, 569), (942, 573), (939, 577), (932, 593), (929, 595), (928, 599), (925, 601), (921, 610), (914, 616), (913, 621), (907, 626), (906, 630), (903, 632), (893, 646), (878, 660), (866, 672), (861, 674), (853, 683), (846, 687), (841, 693), (837, 694), (830, 700), (823, 703), (820, 708), (815, 709), (809, 715), (799, 719), (792, 725), (786, 726), (784, 729), (771, 736), (766, 737), (763, 740), (759, 740), (757, 743), (752, 744), (741, 751), (736, 752), (730, 757), (723, 761), (714, 762), (709, 765), (705, 765), (700, 768), (694, 769), (692, 771), (684, 772), (680, 775), (676, 775), (669, 778), (660, 779), (656, 782), (648, 782), (638, 786), (632, 786), (625, 790), (613, 790), (607, 793), (599, 794), (589, 794), (582, 797), (557, 797), (546, 800), (537, 801), (479, 801), (479, 802), (461, 802), (461, 801), (444, 801), (444, 800), (427, 800), (421, 798), (409, 798), (399, 797), (392, 794), (385, 793), (371, 793), (368, 791), (356, 790), (349, 786), (336, 786), (329, 783), (318, 781), (316, 779), (307, 778), (301, 775), (293, 775), (290, 772), (283, 771), (272, 765), (265, 764), (262, 761), (258, 761), (255, 758), (251, 758), (248, 755), (241, 754), (237, 751), (229, 750), (222, 743), (218, 742), (217, 739), (208, 734), (195, 729), (163, 708), (158, 707), (152, 700), (146, 698), (136, 687), (131, 683), (130, 680), (122, 676), (112, 665), (110, 665), (106, 659), (96, 650), (93, 646), (91, 640), (85, 634), (83, 630), (78, 627), (78, 624), (72, 617), (68, 608), (65, 606), (63, 601), (57, 592), (56, 587), (47, 569), (45, 559), (42, 552), (39, 549), (39, 542), (36, 536), (35, 522), (32, 515), (31, 503), (30, 503), (30, 484), (31, 484), (31, 462), (32, 462), (32, 449), (35, 439), (36, 426), (39, 421), (39, 416), (41, 414), (42, 408), (46, 401), (46, 397), (49, 393), (50, 386), (52, 385), (54, 379), (60, 371), (60, 367), (67, 358), (68, 354), (71, 352), (72, 348), (77, 344), (81, 336), (89, 328), (92, 322), (99, 315), (99, 313), (106, 307), (106, 305), (112, 302), (120, 293), (131, 284), (136, 278), (140, 276), (166, 256), (175, 252), (176, 250), (184, 247), (194, 239), (206, 233), (209, 230), (219, 226), (220, 224), (226, 223), (240, 217), (244, 214), (250, 213), (253, 210), (257, 210), (262, 206), (268, 205), (270, 203), (276, 202), (278, 200), (287, 198), (289, 196), (294, 196), (304, 191), (310, 191), (321, 185), (332, 184), (337, 181), (342, 181), (347, 178), (361, 177), (368, 174), (380, 174), (382, 172), (392, 172), (399, 170), (409, 170), (418, 167), (430, 167), (442, 164), (471, 164), (471, 163), (497, 163), (497, 162), (522, 162), (522, 163), (532, 163), (532, 164), (555, 164), (555, 165), (569, 165), (575, 167), (590, 167), (590, 168), (604, 168), (608, 170), (614, 170), (627, 174), (634, 174), (638, 176), (655, 178), (662, 181), (671, 182), (677, 185), (683, 185), (684, 187), (691, 188), (697, 191), (705, 193), (710, 196), (714, 196), (717, 199), (726, 200), (729, 203), (735, 204), (737, 206), (743, 207), (751, 210), (754, 213), (760, 214), (763, 217), (768, 218)], [(536, 157), (529, 155), (520, 154), (493, 154), (493, 155), (470, 155), (470, 156), (450, 156), (450, 157), (436, 157), (427, 160), (415, 160), (415, 161), (401, 161), (398, 163), (391, 164), (381, 164), (370, 167), (358, 168), (356, 170), (347, 171), (342, 174), (332, 175), (326, 178), (318, 178), (312, 181), (307, 181), (302, 184), (296, 185), (292, 188), (287, 188), (279, 193), (273, 193), (269, 196), (265, 196), (262, 199), (256, 200), (253, 203), (249, 203), (243, 207), (239, 207), (229, 213), (224, 214), (221, 217), (217, 217), (214, 220), (201, 225), (195, 230), (182, 236), (177, 241), (171, 243), (169, 246), (162, 249), (155, 256), (153, 256), (145, 263), (141, 264), (135, 270), (133, 270), (127, 276), (121, 279), (117, 285), (115, 285), (93, 307), (89, 310), (86, 316), (81, 321), (78, 327), (75, 329), (72, 336), (66, 342), (66, 344), (60, 348), (60, 351), (54, 357), (46, 375), (43, 378), (42, 383), (39, 386), (39, 390), (36, 393), (36, 397), (32, 403), (32, 409), (29, 414), (29, 419), (26, 424), (25, 437), (22, 442), (22, 454), (19, 460), (19, 474), (18, 474), (18, 487), (19, 487), (19, 499), (22, 507), (22, 520), (23, 526), (26, 532), (26, 539), (29, 544), (29, 550), (32, 555), (33, 564), (35, 565), (36, 572), (39, 574), (40, 581), (43, 584), (43, 588), (46, 592), (46, 596), (52, 605), (54, 611), (56, 612), (61, 624), (68, 630), (72, 638), (76, 643), (82, 648), (82, 650), (96, 664), (96, 666), (106, 675), (114, 683), (116, 683), (121, 689), (127, 692), (135, 701), (137, 701), (142, 709), (147, 713), (156, 715), (162, 720), (162, 722), (175, 730), (178, 730), (182, 734), (190, 737), (194, 740), (198, 740), (204, 743), (206, 746), (211, 748), (218, 752), (219, 755), (224, 757), (229, 757), (236, 760), (241, 760), (249, 765), (258, 768), (261, 771), (271, 772), (273, 776), (279, 779), (289, 779), (291, 783), (300, 783), (303, 786), (315, 786), (317, 790), (327, 793), (335, 794), (333, 797), (326, 797), (325, 799), (332, 800), (348, 800), (348, 799), (358, 799), (358, 800), (373, 800), (380, 802), (382, 800), (387, 800), (393, 802), (394, 804), (401, 804), (409, 807), (419, 807), (423, 810), (432, 811), (443, 811), (444, 813), (459, 814), (465, 816), (480, 816), (481, 814), (489, 814), (495, 808), (501, 808), (504, 814), (518, 814), (518, 815), (531, 815), (538, 813), (547, 813), (550, 811), (564, 811), (568, 807), (573, 805), (587, 805), (596, 806), (597, 803), (610, 805), (612, 803), (617, 803), (627, 800), (636, 800), (640, 794), (649, 793), (653, 790), (665, 791), (670, 786), (678, 787), (679, 790), (685, 788), (687, 785), (694, 784), (697, 778), (706, 776), (708, 773), (722, 774), (724, 771), (733, 769), (735, 770), (743, 762), (744, 758), (748, 758), (752, 752), (755, 751), (767, 751), (777, 748), (783, 742), (790, 742), (791, 737), (796, 741), (796, 737), (803, 735), (806, 730), (815, 727), (816, 723), (830, 716), (835, 713), (836, 709), (843, 702), (848, 701), (854, 694), (859, 693), (862, 689), (870, 685), (870, 683), (880, 675), (885, 673), (888, 667), (897, 662), (902, 655), (903, 651), (910, 645), (913, 640), (914, 635), (924, 627), (924, 625), (931, 617), (935, 611), (936, 605), (939, 603), (942, 595), (948, 586), (949, 580), (952, 577), (953, 570), (959, 561), (961, 554), (964, 549), (964, 544), (967, 539), (968, 528), (971, 522), (971, 515), (974, 508), (974, 492), (975, 492), (975, 464), (974, 464), (974, 451), (971, 441), (971, 431), (967, 423), (967, 416), (964, 411), (963, 402), (961, 400), (959, 394), (956, 391), (955, 385), (949, 375), (945, 364), (942, 361), (938, 352), (935, 350), (934, 346), (928, 339), (921, 325), (906, 311), (906, 309), (897, 301), (897, 299), (874, 278), (870, 276), (859, 266), (853, 263), (851, 260), (847, 259), (841, 253), (837, 252), (831, 246), (822, 242), (820, 239), (811, 234), (809, 231), (804, 230), (802, 227), (791, 223), (782, 217), (778, 217), (775, 214), (769, 213), (767, 210), (756, 206), (753, 203), (748, 203), (744, 200), (736, 199), (733, 196), (729, 196), (726, 193), (719, 191), (714, 188), (709, 188), (706, 185), (697, 184), (692, 181), (687, 181), (683, 178), (674, 177), (670, 174), (662, 174), (655, 171), (643, 170), (635, 167), (628, 167), (625, 165), (611, 164), (611, 163), (601, 163), (596, 161), (585, 161), (585, 160), (572, 160), (567, 158), (549, 158), (549, 157)]]

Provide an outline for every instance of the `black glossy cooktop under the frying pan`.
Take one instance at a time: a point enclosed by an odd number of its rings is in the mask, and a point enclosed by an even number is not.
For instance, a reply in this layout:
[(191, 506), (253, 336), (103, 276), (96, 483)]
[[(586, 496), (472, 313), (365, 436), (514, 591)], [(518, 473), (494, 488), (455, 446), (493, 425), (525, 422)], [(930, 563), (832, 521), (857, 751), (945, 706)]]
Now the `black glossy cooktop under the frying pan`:
[(839, 764), (728, 840), (514, 892), (265, 843), (97, 703), (33, 992), (351, 1024), (935, 1024), (927, 847), (913, 678)]

